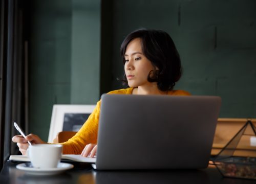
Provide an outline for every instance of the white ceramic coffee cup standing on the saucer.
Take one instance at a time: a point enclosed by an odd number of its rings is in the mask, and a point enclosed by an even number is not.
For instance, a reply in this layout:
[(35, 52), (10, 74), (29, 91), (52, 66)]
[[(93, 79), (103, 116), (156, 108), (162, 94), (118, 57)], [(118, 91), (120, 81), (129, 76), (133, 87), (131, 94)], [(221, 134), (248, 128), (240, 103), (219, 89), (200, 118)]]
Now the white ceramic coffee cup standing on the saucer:
[(62, 155), (62, 145), (35, 144), (28, 148), (27, 154), (34, 168), (56, 168)]

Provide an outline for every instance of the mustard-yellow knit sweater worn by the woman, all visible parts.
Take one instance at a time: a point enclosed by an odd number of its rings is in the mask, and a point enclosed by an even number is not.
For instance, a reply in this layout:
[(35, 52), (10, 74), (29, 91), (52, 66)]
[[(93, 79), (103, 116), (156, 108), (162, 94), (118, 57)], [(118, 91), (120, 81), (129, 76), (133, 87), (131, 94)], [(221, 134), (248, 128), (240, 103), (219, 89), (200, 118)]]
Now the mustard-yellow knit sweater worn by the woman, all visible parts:
[[(131, 95), (133, 88), (119, 89), (110, 91), (108, 94), (127, 94)], [(168, 91), (168, 95), (190, 95), (184, 90), (171, 90)], [(63, 146), (63, 154), (81, 154), (83, 148), (90, 144), (97, 142), (98, 135), (98, 122), (99, 122), (99, 113), (100, 113), (100, 103), (97, 102), (97, 105), (94, 111), (89, 116), (88, 120), (83, 124), (81, 129), (67, 142), (61, 143)]]

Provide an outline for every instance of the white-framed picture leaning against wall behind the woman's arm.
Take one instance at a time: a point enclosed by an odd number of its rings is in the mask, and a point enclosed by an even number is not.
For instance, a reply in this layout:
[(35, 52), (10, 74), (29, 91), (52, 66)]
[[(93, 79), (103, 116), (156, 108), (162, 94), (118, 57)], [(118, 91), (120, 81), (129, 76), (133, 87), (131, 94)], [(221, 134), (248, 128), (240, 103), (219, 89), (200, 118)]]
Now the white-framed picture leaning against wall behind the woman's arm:
[(53, 143), (58, 132), (78, 131), (96, 105), (53, 105), (48, 143)]

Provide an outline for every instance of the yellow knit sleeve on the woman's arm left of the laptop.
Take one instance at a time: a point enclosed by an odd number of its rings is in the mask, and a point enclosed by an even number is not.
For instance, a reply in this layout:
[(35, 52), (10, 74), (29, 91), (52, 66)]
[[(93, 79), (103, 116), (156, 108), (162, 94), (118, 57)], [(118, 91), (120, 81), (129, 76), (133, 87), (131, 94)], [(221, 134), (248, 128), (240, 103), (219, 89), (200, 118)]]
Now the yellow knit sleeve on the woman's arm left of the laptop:
[(100, 102), (98, 101), (94, 111), (80, 130), (67, 142), (60, 143), (63, 146), (63, 154), (81, 154), (86, 145), (97, 143)]

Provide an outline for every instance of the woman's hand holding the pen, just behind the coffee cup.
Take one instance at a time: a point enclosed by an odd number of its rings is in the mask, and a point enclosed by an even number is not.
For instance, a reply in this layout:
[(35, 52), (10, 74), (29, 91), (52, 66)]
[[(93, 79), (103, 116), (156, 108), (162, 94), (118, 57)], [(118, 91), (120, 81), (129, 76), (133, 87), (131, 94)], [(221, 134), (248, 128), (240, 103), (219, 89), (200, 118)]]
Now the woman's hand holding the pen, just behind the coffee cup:
[(28, 141), (31, 144), (46, 144), (46, 142), (42, 141), (40, 137), (34, 134), (29, 134), (26, 136), (26, 139), (22, 135), (15, 135), (12, 137), (12, 141), (17, 143), (19, 151), (22, 152), (23, 155), (26, 155), (27, 149), (29, 147)]

